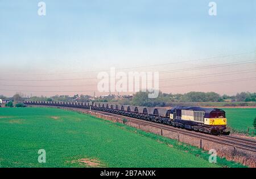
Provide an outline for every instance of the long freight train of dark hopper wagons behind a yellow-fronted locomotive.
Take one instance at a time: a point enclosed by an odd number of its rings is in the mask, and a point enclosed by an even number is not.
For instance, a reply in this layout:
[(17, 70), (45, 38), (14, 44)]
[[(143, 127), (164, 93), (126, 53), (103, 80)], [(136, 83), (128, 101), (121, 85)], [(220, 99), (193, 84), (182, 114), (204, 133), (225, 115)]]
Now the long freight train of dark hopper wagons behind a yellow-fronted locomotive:
[(214, 135), (229, 134), (229, 132), (225, 131), (225, 111), (217, 108), (175, 106), (171, 109), (161, 109), (109, 103), (68, 103), (55, 101), (24, 101), (24, 104), (99, 110), (188, 130), (200, 131), (202, 133)]

